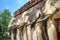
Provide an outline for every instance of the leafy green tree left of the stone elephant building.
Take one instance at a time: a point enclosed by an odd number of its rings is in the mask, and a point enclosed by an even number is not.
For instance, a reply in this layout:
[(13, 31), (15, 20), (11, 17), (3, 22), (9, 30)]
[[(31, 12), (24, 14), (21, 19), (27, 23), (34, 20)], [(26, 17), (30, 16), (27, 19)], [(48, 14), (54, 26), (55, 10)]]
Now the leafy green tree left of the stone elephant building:
[(0, 12), (0, 37), (8, 37), (7, 28), (11, 18), (11, 12), (8, 9)]

